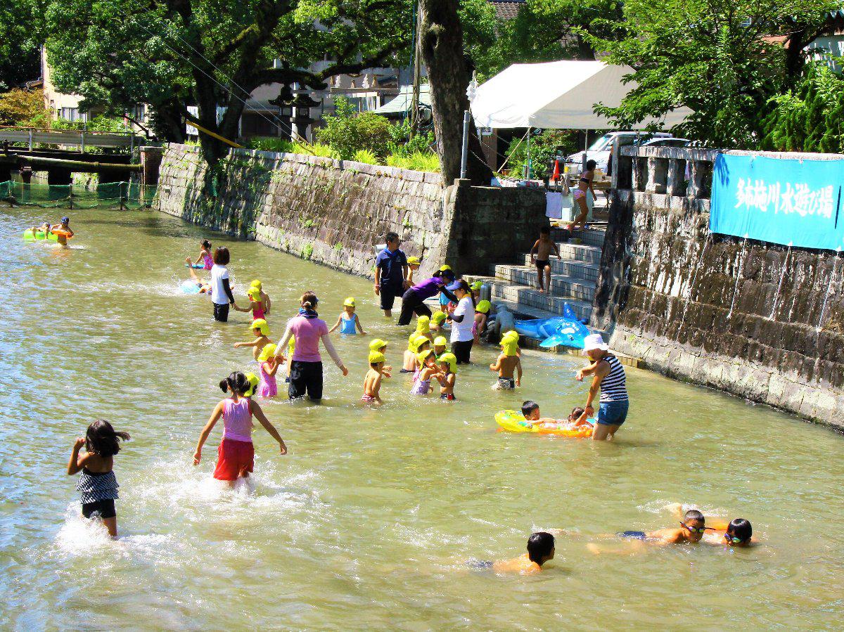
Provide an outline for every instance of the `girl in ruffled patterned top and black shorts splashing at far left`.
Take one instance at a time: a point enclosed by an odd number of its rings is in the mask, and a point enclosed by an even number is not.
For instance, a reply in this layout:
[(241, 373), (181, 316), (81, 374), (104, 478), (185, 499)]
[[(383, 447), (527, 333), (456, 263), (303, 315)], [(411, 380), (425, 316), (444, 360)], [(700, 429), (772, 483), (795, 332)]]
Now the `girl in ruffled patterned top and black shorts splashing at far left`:
[[(114, 501), (117, 500), (117, 479), (112, 468), (114, 456), (120, 451), (120, 440), (129, 440), (129, 433), (116, 432), (104, 419), (97, 419), (88, 426), (84, 438), (79, 437), (73, 444), (73, 452), (68, 461), (68, 474), (82, 472), (77, 491), (82, 494), (82, 515), (90, 518), (100, 514), (111, 537), (117, 537), (117, 512)], [(79, 456), (85, 446), (86, 453)]]

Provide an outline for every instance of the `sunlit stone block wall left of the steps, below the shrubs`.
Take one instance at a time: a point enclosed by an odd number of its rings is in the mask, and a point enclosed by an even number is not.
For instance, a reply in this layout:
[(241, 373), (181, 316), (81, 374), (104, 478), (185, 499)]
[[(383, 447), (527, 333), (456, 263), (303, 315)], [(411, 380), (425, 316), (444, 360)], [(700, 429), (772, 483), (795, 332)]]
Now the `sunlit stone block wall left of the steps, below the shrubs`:
[(468, 182), (444, 189), (434, 173), (246, 149), (231, 150), (220, 166), (213, 178), (198, 148), (170, 144), (157, 207), (365, 277), (389, 231), (408, 256), (423, 259), (421, 275), (444, 262), (469, 273), (506, 252), (515, 260), (538, 223), (547, 223), (540, 192)]

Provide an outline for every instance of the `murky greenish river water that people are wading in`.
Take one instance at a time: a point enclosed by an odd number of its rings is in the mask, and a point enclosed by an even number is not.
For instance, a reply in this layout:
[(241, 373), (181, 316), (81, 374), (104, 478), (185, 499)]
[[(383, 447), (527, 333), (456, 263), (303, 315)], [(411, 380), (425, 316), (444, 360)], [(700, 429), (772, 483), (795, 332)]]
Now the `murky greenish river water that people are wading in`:
[[(524, 354), (523, 388), (492, 392), (460, 370), (457, 402), (408, 396), (408, 377), (361, 408), (369, 338), (337, 337), (321, 406), (263, 402), (289, 446), (255, 434), (253, 488), (211, 478), (220, 427), (192, 467), (217, 382), (250, 368), (249, 316), (211, 319), (181, 292), (198, 240), (232, 251), (242, 297), (262, 278), (273, 336), (316, 289), (333, 324), (358, 298), (390, 342), (371, 284), (254, 242), (149, 212), (73, 213), (73, 249), (19, 238), (43, 211), (0, 215), (0, 626), (5, 629), (619, 629), (649, 625), (833, 629), (841, 625), (842, 437), (770, 408), (628, 370), (630, 417), (613, 443), (507, 435), (493, 413), (584, 400), (582, 360)], [(61, 212), (52, 211), (57, 218)], [(52, 218), (55, 219), (55, 218)], [(133, 440), (116, 456), (121, 537), (78, 516), (73, 440), (95, 418)], [(601, 534), (676, 526), (675, 503), (752, 521), (761, 545), (592, 553)], [(560, 528), (543, 573), (496, 576), (530, 532)], [(630, 554), (627, 554), (630, 553)]]

